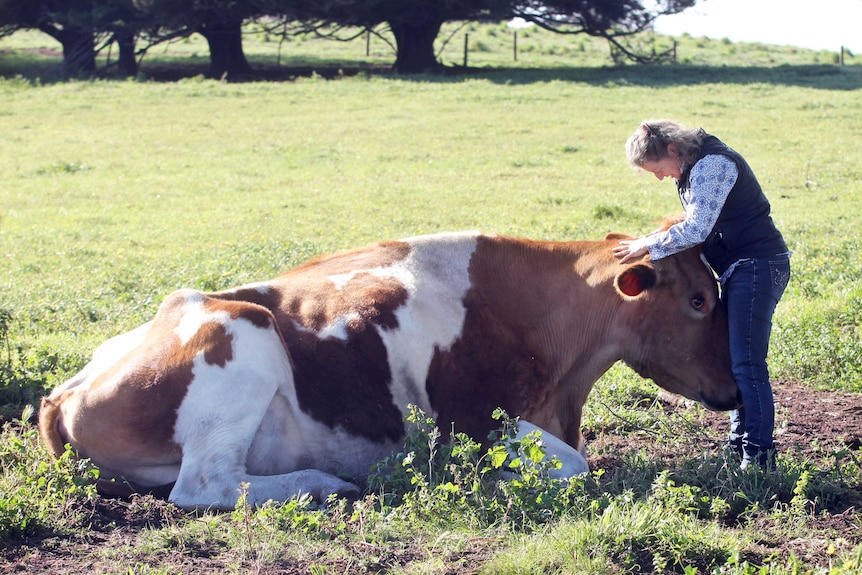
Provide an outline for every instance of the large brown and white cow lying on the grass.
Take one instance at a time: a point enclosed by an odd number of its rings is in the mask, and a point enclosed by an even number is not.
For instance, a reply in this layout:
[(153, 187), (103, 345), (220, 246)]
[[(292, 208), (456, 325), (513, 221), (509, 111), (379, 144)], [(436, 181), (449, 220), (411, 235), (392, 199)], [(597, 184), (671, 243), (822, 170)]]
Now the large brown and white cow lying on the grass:
[(710, 409), (738, 405), (699, 252), (623, 266), (615, 245), (439, 234), (177, 291), (42, 400), (42, 437), (198, 508), (232, 508), (241, 482), (253, 503), (355, 495), (340, 478), (400, 446), (409, 404), (478, 440), (502, 407), (545, 431), (563, 473), (586, 471), (581, 410), (618, 360)]

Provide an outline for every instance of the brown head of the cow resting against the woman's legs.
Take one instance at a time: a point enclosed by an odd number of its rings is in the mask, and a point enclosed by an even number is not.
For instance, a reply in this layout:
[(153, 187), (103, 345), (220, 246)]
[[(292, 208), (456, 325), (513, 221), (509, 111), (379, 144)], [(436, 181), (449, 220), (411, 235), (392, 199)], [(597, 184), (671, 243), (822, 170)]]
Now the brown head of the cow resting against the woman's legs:
[(692, 248), (621, 266), (614, 286), (628, 332), (623, 361), (664, 389), (724, 411), (739, 406), (727, 313), (712, 271)]

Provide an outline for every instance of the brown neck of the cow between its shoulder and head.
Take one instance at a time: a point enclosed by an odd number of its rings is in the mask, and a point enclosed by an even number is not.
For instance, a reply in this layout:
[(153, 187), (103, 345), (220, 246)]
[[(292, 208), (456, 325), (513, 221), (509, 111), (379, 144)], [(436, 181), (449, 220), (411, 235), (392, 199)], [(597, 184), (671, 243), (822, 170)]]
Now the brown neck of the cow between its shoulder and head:
[(493, 315), (510, 322), (547, 368), (550, 401), (525, 405), (522, 417), (574, 446), (587, 395), (621, 359), (612, 332), (620, 309), (613, 287), (618, 268), (610, 254), (602, 242), (536, 242), (501, 250), (472, 270), (487, 282), (481, 292)]

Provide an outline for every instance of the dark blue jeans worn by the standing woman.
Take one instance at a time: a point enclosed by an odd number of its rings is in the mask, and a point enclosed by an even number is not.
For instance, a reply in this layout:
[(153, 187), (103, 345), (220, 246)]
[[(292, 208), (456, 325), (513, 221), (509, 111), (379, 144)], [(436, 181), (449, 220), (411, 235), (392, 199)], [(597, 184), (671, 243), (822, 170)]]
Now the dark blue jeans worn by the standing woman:
[(730, 412), (728, 444), (744, 462), (765, 465), (774, 449), (775, 428), (766, 354), (772, 315), (790, 280), (790, 255), (742, 260), (723, 280), (721, 299), (727, 304), (730, 359), (742, 394), (742, 407)]

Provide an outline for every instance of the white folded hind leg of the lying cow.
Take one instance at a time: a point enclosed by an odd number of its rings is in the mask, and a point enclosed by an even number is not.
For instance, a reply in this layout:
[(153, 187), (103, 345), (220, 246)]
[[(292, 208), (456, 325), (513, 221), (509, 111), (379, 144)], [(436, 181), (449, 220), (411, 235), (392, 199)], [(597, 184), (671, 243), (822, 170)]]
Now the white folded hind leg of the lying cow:
[(243, 319), (235, 310), (233, 315), (223, 324), (230, 357), (210, 363), (199, 353), (194, 359), (193, 381), (177, 413), (174, 439), (183, 456), (169, 499), (184, 508), (233, 509), (242, 489), (252, 505), (302, 494), (321, 500), (333, 493), (358, 496), (355, 485), (314, 469), (271, 476), (247, 472), (255, 434), (279, 387), (292, 387), (293, 375), (273, 325)]

